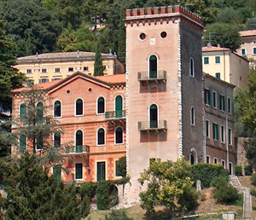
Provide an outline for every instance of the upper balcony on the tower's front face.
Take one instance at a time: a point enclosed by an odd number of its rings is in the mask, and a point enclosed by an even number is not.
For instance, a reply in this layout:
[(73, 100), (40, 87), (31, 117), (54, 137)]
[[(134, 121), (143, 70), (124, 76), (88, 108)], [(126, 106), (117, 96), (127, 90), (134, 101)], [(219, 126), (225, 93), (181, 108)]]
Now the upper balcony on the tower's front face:
[(166, 83), (166, 71), (159, 70), (150, 72), (138, 72), (137, 79), (140, 82), (147, 82), (147, 84), (149, 84), (152, 81), (156, 84), (158, 84), (160, 81)]

